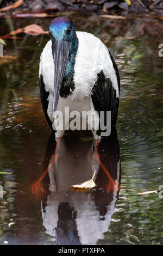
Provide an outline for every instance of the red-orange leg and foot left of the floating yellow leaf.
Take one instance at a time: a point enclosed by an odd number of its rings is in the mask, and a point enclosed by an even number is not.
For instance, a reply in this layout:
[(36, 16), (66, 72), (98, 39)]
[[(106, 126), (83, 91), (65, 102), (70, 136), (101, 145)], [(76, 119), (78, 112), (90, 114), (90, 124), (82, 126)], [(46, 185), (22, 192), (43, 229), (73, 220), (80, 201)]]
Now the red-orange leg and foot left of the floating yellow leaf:
[(44, 178), (44, 177), (46, 176), (46, 174), (48, 173), (48, 169), (53, 166), (53, 164), (57, 161), (57, 159), (58, 159), (58, 157), (59, 157), (58, 149), (59, 149), (59, 144), (60, 144), (60, 138), (57, 138), (56, 141), (57, 141), (57, 145), (56, 145), (56, 148), (55, 148), (54, 155), (52, 156), (51, 163), (50, 163), (49, 166), (46, 168), (45, 172), (42, 173), (42, 175), (41, 175), (41, 177), (39, 178), (39, 180), (37, 180), (37, 181), (32, 185), (32, 194), (34, 194), (37, 199), (39, 199), (41, 190), (42, 190), (43, 193), (45, 193), (45, 191), (44, 191), (44, 190), (42, 189), (42, 187), (41, 187), (41, 182), (42, 182), (43, 178)]

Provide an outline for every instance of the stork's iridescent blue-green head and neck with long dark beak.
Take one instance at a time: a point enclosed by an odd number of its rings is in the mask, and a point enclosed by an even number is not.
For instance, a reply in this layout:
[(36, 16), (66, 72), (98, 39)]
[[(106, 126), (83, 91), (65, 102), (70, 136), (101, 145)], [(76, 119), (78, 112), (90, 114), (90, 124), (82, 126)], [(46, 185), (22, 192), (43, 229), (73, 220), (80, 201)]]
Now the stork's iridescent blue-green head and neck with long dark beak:
[(67, 97), (74, 90), (74, 64), (78, 50), (78, 38), (69, 17), (57, 17), (49, 26), (54, 60), (53, 114), (59, 95)]

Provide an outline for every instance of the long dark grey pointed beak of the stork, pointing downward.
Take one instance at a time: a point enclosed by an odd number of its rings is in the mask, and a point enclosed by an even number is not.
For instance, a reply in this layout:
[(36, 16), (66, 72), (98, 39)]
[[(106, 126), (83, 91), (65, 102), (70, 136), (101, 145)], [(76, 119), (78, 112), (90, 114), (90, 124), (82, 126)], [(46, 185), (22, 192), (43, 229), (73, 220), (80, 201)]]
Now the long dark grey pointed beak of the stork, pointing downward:
[(54, 92), (53, 92), (53, 113), (57, 109), (60, 88), (66, 69), (70, 42), (57, 40), (52, 43), (54, 51)]

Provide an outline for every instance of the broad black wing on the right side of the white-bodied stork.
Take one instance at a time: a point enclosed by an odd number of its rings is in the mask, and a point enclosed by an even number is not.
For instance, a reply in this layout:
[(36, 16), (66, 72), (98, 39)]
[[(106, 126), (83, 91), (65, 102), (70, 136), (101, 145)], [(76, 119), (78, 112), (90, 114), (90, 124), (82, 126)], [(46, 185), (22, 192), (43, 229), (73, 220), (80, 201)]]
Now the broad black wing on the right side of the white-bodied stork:
[[(110, 52), (109, 52), (110, 53)], [(118, 90), (120, 92), (120, 75), (118, 73), (117, 65), (110, 54), (112, 64), (117, 76)], [(92, 102), (95, 110), (105, 112), (105, 125), (106, 125), (106, 111), (111, 111), (111, 135), (116, 134), (116, 120), (119, 107), (119, 99), (116, 97), (116, 90), (112, 86), (110, 78), (106, 78), (103, 70), (97, 75), (97, 81), (93, 87)], [(98, 135), (101, 135), (100, 124)]]

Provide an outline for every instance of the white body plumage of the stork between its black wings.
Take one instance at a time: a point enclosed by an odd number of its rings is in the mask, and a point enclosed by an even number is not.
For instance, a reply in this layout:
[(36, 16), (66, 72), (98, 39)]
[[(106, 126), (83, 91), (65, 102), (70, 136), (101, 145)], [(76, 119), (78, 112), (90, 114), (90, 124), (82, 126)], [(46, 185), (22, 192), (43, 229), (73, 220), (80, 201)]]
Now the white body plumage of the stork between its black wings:
[[(117, 76), (110, 58), (108, 48), (96, 36), (86, 32), (76, 32), (79, 40), (76, 62), (74, 65), (73, 81), (75, 89), (67, 98), (60, 97), (57, 111), (64, 114), (65, 107), (70, 107), (70, 112), (95, 111), (92, 103), (92, 88), (97, 81), (97, 75), (103, 71), (106, 78), (110, 78), (112, 86), (119, 97)], [(54, 89), (54, 62), (52, 57), (52, 41), (49, 40), (42, 51), (39, 75), (43, 76), (45, 90), (49, 93), (47, 114), (53, 123), (53, 89)], [(98, 115), (96, 117), (98, 118)], [(55, 124), (53, 124), (55, 127)], [(56, 137), (61, 137), (64, 131), (57, 131)]]

